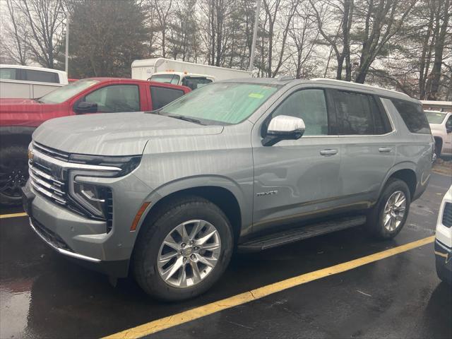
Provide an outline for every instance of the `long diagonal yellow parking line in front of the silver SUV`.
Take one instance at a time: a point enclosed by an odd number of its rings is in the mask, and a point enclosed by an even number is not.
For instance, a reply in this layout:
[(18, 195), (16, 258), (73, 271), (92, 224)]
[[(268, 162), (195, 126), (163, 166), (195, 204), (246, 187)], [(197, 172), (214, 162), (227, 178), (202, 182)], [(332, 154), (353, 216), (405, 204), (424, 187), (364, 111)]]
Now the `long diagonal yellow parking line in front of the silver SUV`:
[(155, 321), (150, 321), (140, 326), (129, 328), (127, 330), (121, 331), (119, 333), (114, 333), (106, 338), (141, 338), (145, 335), (150, 335), (173, 326), (181, 325), (182, 323), (187, 323), (189, 321), (202, 318), (203, 316), (208, 316), (214, 314), (218, 311), (224, 309), (230, 309), (231, 307), (236, 307), (247, 302), (252, 302), (253, 300), (272, 295), (276, 292), (281, 292), (287, 290), (288, 288), (309, 283), (310, 281), (317, 280), (320, 278), (325, 278), (328, 275), (333, 275), (337, 273), (345, 272), (346, 270), (352, 270), (359, 266), (366, 265), (367, 263), (373, 263), (389, 256), (395, 256), (396, 254), (409, 251), (410, 249), (415, 249), (416, 247), (423, 246), (425, 244), (430, 244), (434, 242), (434, 237), (427, 237), (424, 239), (417, 240), (416, 242), (410, 242), (408, 244), (394, 247), (393, 249), (387, 249), (386, 251), (377, 252), (369, 256), (363, 256), (362, 258), (357, 258), (352, 261), (347, 261), (346, 263), (340, 263), (335, 266), (328, 268), (323, 268), (321, 270), (316, 270), (311, 273), (305, 273), (298, 275), (294, 278), (289, 278), (278, 283), (273, 283), (263, 287), (256, 288), (256, 290), (251, 290), (248, 292), (241, 293), (239, 295), (234, 295), (226, 299), (219, 300), (218, 302), (212, 302), (194, 309), (189, 309), (178, 314), (173, 314), (172, 316), (167, 316), (162, 319), (157, 319)]

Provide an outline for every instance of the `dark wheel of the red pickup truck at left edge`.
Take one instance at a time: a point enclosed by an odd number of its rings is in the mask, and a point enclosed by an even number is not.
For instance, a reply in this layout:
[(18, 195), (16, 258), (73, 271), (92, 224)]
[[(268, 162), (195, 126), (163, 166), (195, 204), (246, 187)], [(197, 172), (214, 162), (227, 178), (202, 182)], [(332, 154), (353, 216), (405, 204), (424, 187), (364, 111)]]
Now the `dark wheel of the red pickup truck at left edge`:
[(21, 187), (28, 180), (27, 148), (23, 145), (0, 149), (0, 203), (20, 205)]

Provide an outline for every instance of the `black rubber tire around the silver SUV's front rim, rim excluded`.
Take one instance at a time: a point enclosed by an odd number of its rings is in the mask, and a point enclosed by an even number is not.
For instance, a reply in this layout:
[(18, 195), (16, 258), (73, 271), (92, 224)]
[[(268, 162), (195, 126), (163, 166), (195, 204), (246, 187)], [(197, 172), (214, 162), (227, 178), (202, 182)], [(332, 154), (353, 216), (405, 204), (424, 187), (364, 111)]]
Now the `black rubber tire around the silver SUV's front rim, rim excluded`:
[[(189, 299), (206, 292), (206, 290), (208, 290), (225, 271), (233, 249), (232, 231), (229, 222), (222, 211), (212, 203), (194, 203), (191, 204), (191, 206), (187, 206), (187, 208), (174, 210), (176, 213), (165, 213), (165, 215), (162, 215), (161, 218), (150, 226), (153, 229), (150, 230), (150, 232), (154, 232), (150, 235), (148, 246), (144, 245), (141, 249), (141, 251), (143, 251), (141, 254), (143, 260), (141, 261), (140, 266), (142, 267), (138, 267), (138, 270), (141, 270), (141, 273), (145, 278), (140, 284), (142, 285), (141, 287), (143, 287), (143, 290), (158, 299), (167, 301)], [(182, 222), (196, 219), (206, 220), (218, 230), (221, 241), (221, 252), (218, 263), (206, 278), (193, 287), (172, 287), (165, 283), (158, 273), (157, 257), (160, 246), (169, 232), (174, 230), (174, 227), (182, 224)], [(138, 281), (138, 283), (140, 282)]]

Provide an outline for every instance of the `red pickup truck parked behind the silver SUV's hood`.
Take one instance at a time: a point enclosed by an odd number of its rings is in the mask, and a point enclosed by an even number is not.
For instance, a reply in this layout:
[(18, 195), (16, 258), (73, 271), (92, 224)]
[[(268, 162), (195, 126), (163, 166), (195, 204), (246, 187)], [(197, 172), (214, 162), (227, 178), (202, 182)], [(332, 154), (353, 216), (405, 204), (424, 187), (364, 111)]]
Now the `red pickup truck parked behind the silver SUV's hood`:
[(28, 144), (42, 122), (75, 114), (159, 109), (190, 88), (124, 78), (87, 78), (38, 99), (0, 99), (0, 204), (20, 203)]

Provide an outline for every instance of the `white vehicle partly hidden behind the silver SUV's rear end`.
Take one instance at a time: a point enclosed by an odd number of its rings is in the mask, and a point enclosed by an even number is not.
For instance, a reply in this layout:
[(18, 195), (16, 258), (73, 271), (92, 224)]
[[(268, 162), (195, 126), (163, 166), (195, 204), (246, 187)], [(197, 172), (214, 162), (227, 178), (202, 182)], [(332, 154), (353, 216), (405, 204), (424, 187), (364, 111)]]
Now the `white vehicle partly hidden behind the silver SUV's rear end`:
[(452, 155), (452, 113), (424, 111), (435, 138), (436, 157)]

